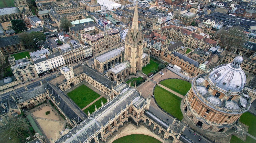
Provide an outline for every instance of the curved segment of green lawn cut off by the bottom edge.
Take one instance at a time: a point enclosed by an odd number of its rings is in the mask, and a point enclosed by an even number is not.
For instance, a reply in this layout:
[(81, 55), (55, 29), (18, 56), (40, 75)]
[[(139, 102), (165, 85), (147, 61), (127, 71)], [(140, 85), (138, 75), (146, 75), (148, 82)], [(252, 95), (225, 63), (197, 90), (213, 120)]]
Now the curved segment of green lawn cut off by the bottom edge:
[(113, 143), (160, 143), (161, 141), (153, 138), (151, 136), (142, 135), (142, 134), (133, 134), (118, 138), (113, 141)]

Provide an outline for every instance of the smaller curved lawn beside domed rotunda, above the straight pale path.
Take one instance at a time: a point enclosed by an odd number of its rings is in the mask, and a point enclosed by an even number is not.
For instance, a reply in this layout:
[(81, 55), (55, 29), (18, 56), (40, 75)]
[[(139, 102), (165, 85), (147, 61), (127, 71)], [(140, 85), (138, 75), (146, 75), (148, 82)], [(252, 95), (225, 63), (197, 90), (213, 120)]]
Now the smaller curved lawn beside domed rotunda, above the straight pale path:
[(185, 96), (191, 88), (191, 83), (181, 79), (166, 79), (160, 82), (165, 87)]

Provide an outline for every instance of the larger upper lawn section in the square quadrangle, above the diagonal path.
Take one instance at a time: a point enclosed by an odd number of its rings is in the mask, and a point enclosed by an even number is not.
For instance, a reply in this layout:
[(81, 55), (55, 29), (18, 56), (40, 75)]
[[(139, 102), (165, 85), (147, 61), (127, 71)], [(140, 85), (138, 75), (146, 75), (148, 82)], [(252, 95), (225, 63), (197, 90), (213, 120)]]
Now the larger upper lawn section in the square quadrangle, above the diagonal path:
[(100, 97), (100, 95), (93, 90), (91, 90), (86, 85), (81, 85), (80, 87), (67, 93), (67, 95), (76, 103), (81, 109), (93, 102), (95, 99)]

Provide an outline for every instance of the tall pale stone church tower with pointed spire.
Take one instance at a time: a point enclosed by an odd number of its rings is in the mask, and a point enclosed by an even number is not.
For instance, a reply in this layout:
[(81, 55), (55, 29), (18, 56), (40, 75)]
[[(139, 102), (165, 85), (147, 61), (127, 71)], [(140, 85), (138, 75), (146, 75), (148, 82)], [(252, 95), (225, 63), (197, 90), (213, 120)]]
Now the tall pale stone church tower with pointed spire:
[(143, 43), (142, 26), (138, 26), (138, 7), (137, 2), (134, 9), (134, 16), (132, 21), (132, 26), (128, 30), (125, 38), (125, 51), (124, 60), (129, 61), (131, 65), (131, 72), (136, 73), (136, 71), (142, 69), (142, 54), (143, 48), (146, 44)]

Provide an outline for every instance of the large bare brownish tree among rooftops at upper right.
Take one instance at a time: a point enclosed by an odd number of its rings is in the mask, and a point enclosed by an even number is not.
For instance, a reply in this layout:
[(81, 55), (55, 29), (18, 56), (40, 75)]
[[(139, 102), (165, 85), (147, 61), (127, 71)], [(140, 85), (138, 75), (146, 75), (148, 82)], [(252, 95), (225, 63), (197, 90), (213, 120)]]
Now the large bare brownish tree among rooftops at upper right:
[(247, 34), (243, 33), (243, 29), (239, 26), (234, 26), (228, 30), (223, 27), (217, 31), (215, 38), (219, 39), (221, 47), (225, 48), (227, 46), (227, 50), (229, 50), (230, 48), (241, 46), (246, 40)]

